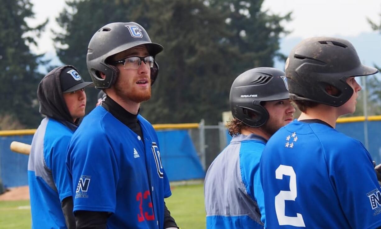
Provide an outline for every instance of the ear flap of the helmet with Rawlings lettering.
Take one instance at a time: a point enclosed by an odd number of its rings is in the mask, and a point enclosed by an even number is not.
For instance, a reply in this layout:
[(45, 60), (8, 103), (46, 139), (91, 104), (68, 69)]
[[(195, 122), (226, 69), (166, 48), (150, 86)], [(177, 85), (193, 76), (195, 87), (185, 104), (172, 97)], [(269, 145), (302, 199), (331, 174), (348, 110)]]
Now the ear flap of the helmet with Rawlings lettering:
[[(257, 101), (255, 101), (257, 102)], [(245, 123), (249, 127), (260, 127), (264, 125), (264, 123), (269, 120), (269, 112), (261, 106), (261, 105), (254, 105), (253, 107), (241, 107), (243, 117), (241, 122)]]

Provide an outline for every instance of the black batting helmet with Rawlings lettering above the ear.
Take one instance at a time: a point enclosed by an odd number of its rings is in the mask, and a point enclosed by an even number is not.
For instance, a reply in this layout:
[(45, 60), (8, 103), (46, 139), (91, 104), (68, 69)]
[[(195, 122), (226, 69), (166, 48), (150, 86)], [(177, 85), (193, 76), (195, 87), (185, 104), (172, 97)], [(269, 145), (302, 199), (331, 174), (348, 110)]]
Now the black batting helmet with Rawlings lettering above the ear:
[(257, 67), (235, 78), (229, 100), (234, 118), (250, 127), (260, 127), (269, 120), (269, 112), (261, 102), (288, 98), (285, 73), (272, 67)]

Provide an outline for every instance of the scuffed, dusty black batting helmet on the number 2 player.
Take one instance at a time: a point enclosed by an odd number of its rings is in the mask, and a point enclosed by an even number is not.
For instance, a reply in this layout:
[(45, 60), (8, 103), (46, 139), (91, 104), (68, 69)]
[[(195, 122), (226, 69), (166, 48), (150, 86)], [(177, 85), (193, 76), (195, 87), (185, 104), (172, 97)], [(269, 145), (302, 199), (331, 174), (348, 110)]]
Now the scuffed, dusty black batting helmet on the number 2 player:
[[(291, 51), (285, 69), (291, 99), (334, 107), (343, 105), (353, 94), (346, 83), (348, 77), (378, 72), (361, 64), (349, 41), (333, 37), (303, 40)], [(328, 85), (335, 86), (339, 93), (328, 94), (325, 90)]]

